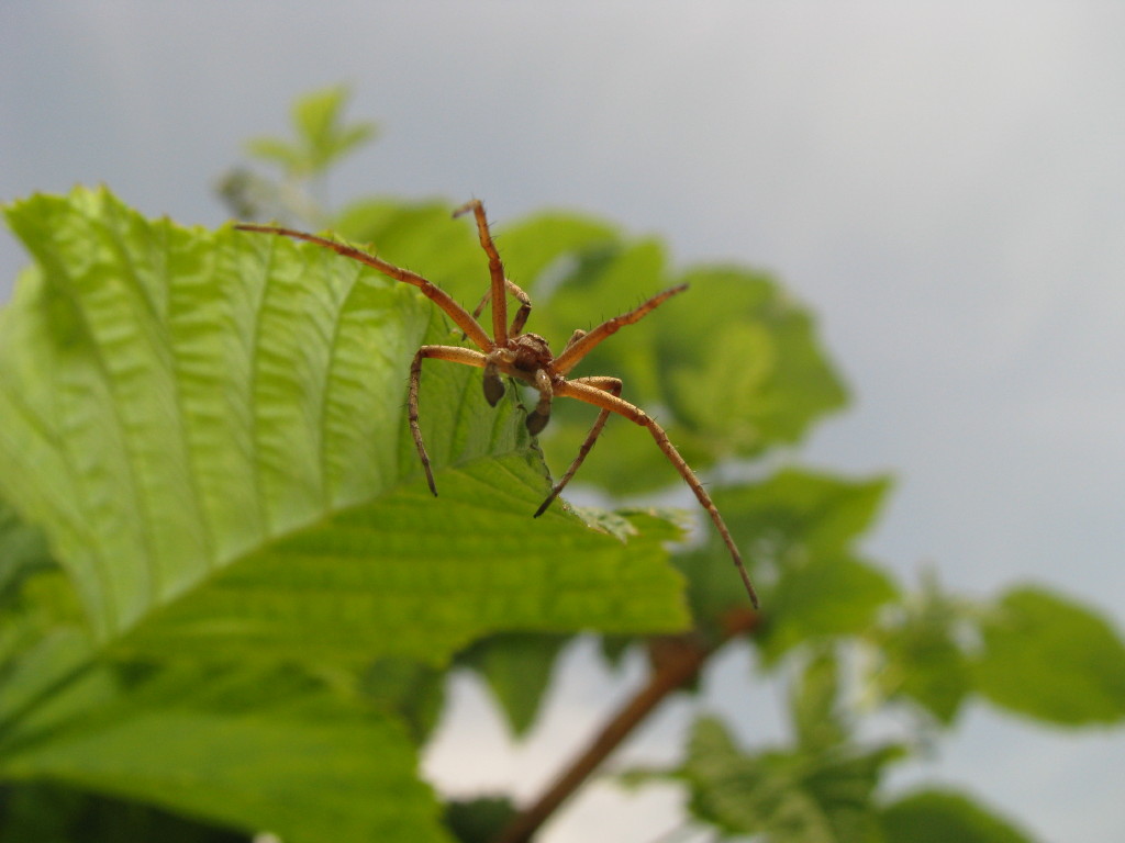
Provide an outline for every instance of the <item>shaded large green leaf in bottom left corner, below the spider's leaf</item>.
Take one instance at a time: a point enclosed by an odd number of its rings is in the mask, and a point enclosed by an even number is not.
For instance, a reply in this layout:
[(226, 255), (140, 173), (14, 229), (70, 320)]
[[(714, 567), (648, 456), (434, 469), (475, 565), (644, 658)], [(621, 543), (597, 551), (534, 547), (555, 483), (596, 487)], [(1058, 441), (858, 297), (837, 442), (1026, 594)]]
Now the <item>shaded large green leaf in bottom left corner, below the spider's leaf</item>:
[[(9, 783), (0, 840), (93, 840), (102, 826), (107, 841), (125, 840), (112, 836), (123, 827), (184, 843), (218, 840), (78, 791), (245, 833), (271, 828), (295, 842), (336, 841), (341, 830), (357, 840), (444, 840), (435, 800), (416, 779), (414, 742), (384, 713), (399, 708), (386, 698), (395, 678), (387, 681), (385, 664), (364, 683), (378, 708), (291, 670), (206, 669), (169, 653), (171, 667), (115, 664), (81, 628), (62, 573), (25, 571), (2, 625), (0, 780)], [(50, 792), (63, 786), (73, 798), (43, 806), (48, 782)], [(56, 822), (34, 823), (36, 804)], [(81, 836), (65, 836), (74, 826)]]

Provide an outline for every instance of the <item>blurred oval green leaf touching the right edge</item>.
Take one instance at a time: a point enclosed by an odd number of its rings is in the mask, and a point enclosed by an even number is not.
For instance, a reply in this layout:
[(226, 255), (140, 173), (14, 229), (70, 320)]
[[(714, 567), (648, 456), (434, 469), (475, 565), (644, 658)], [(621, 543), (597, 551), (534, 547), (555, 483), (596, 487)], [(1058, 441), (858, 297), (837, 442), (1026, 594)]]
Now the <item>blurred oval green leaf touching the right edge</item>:
[(978, 690), (1066, 726), (1125, 718), (1125, 644), (1092, 610), (1045, 589), (1008, 591), (981, 624)]

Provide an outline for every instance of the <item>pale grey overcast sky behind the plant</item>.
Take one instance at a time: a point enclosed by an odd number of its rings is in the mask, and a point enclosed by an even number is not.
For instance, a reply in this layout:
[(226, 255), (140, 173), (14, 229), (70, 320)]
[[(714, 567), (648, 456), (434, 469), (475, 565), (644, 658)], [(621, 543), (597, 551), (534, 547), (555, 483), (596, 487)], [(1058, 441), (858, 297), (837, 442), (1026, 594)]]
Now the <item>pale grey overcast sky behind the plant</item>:
[[(564, 206), (662, 235), (680, 262), (772, 270), (856, 397), (804, 459), (898, 477), (871, 553), (974, 595), (1047, 582), (1123, 626), (1125, 6), (4, 0), (0, 31), (3, 201), (105, 182), (218, 224), (210, 185), (240, 144), (348, 81), (384, 137), (338, 199), (479, 197), (500, 223)], [(0, 235), (4, 296), (24, 263)], [(537, 752), (565, 754), (628, 689), (591, 661), (569, 660)], [(728, 660), (716, 705), (745, 669)], [(458, 692), (464, 722), (487, 717)], [(476, 752), (457, 740), (439, 779)], [(1110, 843), (1123, 755), (1122, 729), (975, 710), (924, 772), (1044, 840)], [(482, 774), (526, 781), (522, 758)], [(549, 842), (666, 827), (656, 803), (614, 799)]]

